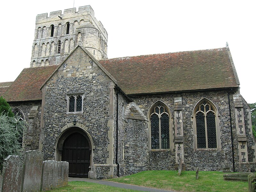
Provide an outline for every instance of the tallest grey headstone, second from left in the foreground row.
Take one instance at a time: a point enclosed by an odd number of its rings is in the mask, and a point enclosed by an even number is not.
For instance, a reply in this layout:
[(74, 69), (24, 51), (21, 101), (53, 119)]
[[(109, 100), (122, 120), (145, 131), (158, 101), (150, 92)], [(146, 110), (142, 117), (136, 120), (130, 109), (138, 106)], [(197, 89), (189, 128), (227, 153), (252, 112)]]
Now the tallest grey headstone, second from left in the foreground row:
[(39, 151), (26, 151), (23, 165), (22, 190), (40, 191), (44, 154)]

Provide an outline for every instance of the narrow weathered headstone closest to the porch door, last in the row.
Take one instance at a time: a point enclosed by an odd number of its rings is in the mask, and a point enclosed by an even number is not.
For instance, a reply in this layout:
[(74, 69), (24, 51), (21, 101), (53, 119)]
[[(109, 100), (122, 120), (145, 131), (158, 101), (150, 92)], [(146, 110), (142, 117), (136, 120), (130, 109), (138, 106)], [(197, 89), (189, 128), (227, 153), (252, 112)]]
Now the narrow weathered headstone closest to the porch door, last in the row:
[(68, 185), (68, 162), (67, 161), (60, 161), (58, 162), (58, 181), (57, 187), (63, 187)]

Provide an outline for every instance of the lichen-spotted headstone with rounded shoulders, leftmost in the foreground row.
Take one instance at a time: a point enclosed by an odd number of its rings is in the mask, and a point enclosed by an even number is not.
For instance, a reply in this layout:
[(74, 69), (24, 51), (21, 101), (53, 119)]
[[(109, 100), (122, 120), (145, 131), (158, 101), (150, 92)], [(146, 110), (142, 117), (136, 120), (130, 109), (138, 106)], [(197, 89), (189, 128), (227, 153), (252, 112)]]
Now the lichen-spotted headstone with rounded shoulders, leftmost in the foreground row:
[(22, 163), (20, 156), (9, 155), (4, 159), (0, 191), (21, 192)]

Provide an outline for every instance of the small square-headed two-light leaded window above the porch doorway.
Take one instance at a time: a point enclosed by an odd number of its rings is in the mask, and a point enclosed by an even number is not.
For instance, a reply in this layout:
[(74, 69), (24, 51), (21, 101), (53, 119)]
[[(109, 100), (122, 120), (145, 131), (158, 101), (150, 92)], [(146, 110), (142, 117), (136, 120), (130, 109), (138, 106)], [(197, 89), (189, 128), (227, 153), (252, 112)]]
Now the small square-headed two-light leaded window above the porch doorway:
[(69, 95), (68, 97), (68, 113), (83, 112), (83, 95)]

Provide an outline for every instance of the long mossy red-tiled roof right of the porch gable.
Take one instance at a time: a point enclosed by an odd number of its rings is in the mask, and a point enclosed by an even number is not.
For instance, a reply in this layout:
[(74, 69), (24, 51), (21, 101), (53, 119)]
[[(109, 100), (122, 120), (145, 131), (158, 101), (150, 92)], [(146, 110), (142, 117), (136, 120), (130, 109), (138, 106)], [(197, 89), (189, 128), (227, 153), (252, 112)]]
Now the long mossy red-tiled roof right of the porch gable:
[(99, 62), (126, 94), (239, 87), (227, 47)]

